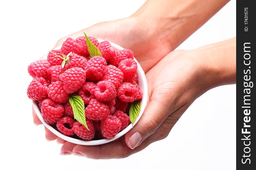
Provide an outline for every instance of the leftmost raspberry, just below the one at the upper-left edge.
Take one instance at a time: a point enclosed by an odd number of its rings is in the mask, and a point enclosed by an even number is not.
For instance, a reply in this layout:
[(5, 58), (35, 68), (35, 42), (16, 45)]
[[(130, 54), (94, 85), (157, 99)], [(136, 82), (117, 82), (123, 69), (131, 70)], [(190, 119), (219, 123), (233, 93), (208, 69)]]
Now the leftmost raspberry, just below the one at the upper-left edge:
[(49, 84), (43, 77), (35, 78), (29, 84), (27, 89), (28, 98), (32, 100), (40, 100), (47, 96)]

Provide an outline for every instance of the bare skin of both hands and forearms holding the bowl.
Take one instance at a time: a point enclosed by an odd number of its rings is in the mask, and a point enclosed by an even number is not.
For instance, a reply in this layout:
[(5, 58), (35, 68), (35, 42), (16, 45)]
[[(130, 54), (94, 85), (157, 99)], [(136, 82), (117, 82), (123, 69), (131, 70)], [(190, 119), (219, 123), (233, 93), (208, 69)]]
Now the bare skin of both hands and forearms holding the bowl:
[[(236, 82), (235, 38), (195, 50), (173, 51), (227, 2), (148, 0), (128, 18), (101, 22), (68, 35), (76, 38), (84, 31), (131, 49), (146, 73), (148, 105), (136, 126), (111, 143), (76, 145), (45, 128), (46, 139), (64, 144), (62, 155), (92, 159), (125, 158), (164, 139), (196, 98), (211, 88)], [(55, 47), (67, 37), (61, 38)], [(42, 124), (34, 110), (33, 120), (36, 125)]]

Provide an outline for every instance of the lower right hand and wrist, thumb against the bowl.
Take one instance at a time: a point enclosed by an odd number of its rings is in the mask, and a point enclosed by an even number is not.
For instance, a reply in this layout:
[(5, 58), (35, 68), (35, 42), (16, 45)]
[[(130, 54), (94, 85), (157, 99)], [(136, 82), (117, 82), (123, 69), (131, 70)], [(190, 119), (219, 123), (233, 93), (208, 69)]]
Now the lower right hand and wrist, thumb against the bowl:
[(196, 50), (171, 52), (146, 73), (148, 105), (133, 129), (104, 145), (66, 142), (61, 154), (92, 159), (125, 158), (164, 139), (196, 98), (216, 86), (235, 83), (235, 48), (233, 38)]

